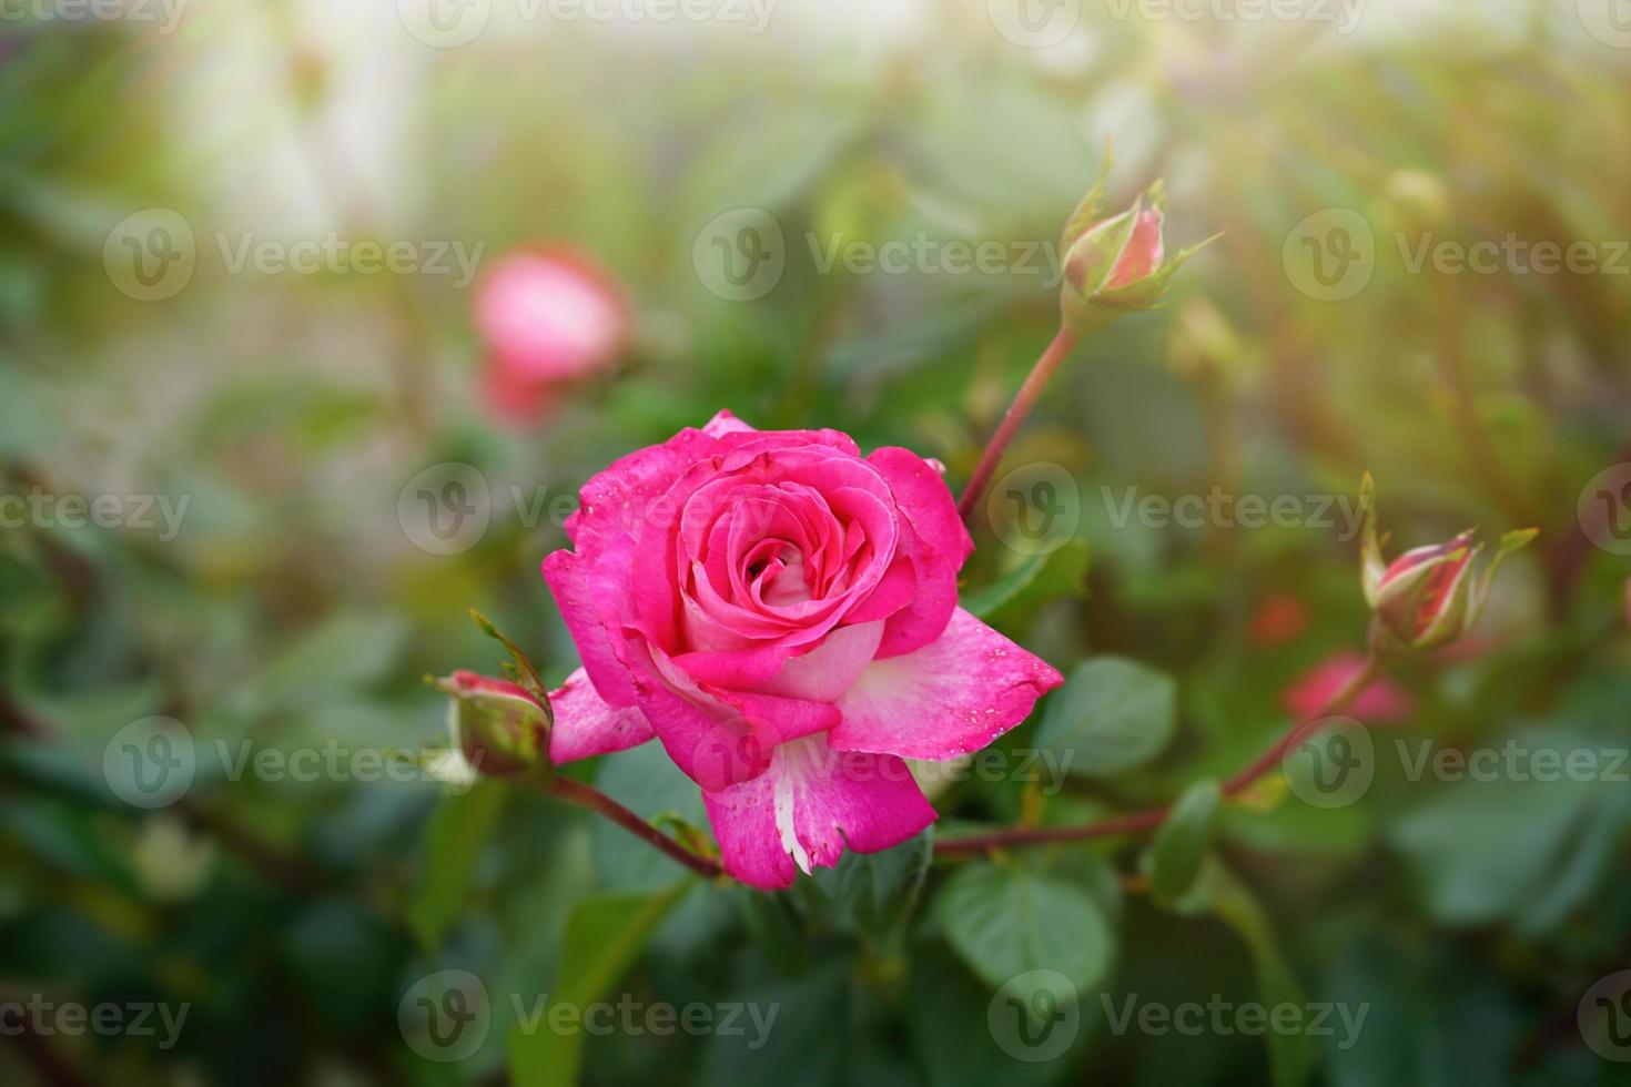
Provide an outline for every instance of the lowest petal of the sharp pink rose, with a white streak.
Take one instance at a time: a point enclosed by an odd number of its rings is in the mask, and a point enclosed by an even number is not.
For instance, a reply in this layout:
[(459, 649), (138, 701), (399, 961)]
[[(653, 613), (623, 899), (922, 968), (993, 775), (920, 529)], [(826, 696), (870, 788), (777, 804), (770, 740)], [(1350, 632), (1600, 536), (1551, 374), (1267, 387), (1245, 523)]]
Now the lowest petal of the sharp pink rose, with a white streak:
[(799, 869), (832, 867), (845, 847), (889, 849), (935, 821), (905, 763), (835, 751), (822, 737), (783, 743), (763, 774), (703, 802), (726, 872), (763, 890), (789, 887)]

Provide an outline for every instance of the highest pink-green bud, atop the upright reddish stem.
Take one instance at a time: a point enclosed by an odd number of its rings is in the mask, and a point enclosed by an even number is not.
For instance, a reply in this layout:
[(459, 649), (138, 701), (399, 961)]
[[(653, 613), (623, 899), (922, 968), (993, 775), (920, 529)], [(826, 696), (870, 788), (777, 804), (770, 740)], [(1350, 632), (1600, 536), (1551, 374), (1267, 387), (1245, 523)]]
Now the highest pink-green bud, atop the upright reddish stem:
[(1065, 328), (1078, 337), (1122, 313), (1158, 308), (1173, 274), (1212, 241), (1207, 238), (1166, 259), (1166, 184), (1161, 181), (1117, 215), (1099, 215), (1103, 196), (1104, 178), (1099, 178), (1060, 238), (1065, 254), (1060, 308)]

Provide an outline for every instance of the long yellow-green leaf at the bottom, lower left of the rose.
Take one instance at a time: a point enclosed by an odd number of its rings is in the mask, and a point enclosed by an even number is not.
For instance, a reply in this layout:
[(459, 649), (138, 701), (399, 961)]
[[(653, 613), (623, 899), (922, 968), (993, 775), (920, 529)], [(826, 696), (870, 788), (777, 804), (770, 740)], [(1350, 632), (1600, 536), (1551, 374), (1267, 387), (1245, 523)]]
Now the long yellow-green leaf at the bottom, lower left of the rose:
[[(564, 952), (550, 1004), (582, 1009), (602, 999), (639, 958), (657, 922), (690, 882), (661, 895), (592, 895), (566, 919)], [(548, 1014), (546, 1009), (545, 1015)], [(511, 1082), (569, 1087), (577, 1082), (584, 1032), (555, 1032), (548, 1020), (517, 1020), (509, 1035)]]

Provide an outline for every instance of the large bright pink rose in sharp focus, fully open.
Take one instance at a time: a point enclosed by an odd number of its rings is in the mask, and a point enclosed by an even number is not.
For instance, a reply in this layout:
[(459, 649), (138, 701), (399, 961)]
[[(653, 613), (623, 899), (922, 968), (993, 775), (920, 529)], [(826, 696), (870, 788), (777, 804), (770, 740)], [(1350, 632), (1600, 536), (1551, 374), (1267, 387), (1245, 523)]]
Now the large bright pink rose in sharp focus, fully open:
[(584, 665), (551, 759), (656, 737), (755, 887), (922, 831), (904, 759), (983, 748), (1062, 681), (957, 608), (974, 541), (907, 450), (719, 412), (584, 484), (566, 531), (543, 577)]

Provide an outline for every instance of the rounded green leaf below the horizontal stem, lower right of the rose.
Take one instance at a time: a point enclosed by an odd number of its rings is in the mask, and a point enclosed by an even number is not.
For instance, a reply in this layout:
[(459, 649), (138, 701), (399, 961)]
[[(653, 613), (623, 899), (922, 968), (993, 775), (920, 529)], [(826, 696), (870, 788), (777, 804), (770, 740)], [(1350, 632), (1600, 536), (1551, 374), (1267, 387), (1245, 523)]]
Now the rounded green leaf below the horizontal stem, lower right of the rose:
[(1116, 952), (1109, 921), (1086, 891), (1014, 865), (969, 865), (946, 883), (936, 916), (957, 955), (995, 988), (1052, 970), (1083, 992)]

